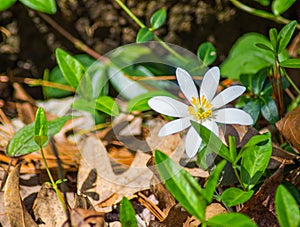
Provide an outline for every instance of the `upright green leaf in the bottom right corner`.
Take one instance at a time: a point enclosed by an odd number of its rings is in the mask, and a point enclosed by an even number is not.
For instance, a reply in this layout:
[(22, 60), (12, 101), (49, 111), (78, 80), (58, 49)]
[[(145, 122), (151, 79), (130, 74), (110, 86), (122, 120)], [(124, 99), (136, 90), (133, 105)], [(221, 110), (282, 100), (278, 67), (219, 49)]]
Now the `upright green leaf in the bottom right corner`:
[(300, 211), (295, 198), (283, 186), (279, 185), (275, 195), (275, 208), (280, 226), (300, 226)]

